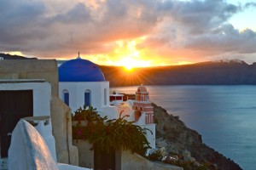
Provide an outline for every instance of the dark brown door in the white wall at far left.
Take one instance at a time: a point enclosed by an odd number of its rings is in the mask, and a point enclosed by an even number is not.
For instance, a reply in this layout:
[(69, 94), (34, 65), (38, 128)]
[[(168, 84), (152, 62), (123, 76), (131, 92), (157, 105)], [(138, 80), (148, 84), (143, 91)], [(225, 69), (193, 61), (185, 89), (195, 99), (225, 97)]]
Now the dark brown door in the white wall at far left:
[(0, 91), (1, 157), (8, 156), (11, 133), (26, 116), (33, 116), (32, 90)]

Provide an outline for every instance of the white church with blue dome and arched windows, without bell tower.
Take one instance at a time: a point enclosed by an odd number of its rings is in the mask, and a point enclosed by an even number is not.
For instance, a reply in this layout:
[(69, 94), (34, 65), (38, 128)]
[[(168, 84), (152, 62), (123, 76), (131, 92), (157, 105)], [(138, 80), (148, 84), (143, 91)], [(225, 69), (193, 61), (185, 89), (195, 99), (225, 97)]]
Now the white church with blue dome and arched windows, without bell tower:
[(109, 106), (109, 82), (100, 68), (86, 59), (71, 59), (59, 66), (59, 95), (71, 108), (93, 106), (109, 118), (115, 117), (114, 107)]

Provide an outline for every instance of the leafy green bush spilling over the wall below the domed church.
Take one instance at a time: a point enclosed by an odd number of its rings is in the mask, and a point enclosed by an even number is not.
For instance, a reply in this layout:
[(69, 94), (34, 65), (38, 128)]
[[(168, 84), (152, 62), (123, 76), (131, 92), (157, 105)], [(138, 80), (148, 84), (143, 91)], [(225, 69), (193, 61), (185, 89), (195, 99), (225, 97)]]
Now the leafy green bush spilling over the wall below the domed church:
[[(75, 111), (73, 121), (78, 121), (73, 126), (73, 139), (88, 140), (97, 150), (131, 150), (144, 155), (150, 148), (145, 134), (149, 131), (125, 120), (125, 116), (108, 120), (107, 116), (101, 117), (96, 109), (91, 106), (81, 107)], [(83, 124), (82, 122), (86, 122)]]

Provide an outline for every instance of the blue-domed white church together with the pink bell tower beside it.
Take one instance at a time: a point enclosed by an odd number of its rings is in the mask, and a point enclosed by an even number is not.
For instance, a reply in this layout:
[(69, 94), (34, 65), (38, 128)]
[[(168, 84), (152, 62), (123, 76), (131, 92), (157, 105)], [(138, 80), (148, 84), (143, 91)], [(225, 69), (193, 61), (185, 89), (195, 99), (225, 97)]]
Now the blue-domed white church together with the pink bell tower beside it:
[(151, 148), (155, 148), (154, 112), (146, 87), (137, 88), (135, 101), (127, 100), (113, 106), (109, 103), (109, 82), (96, 64), (79, 56), (60, 65), (58, 71), (60, 99), (72, 112), (91, 105), (101, 116), (113, 119), (118, 118), (122, 111), (122, 114), (128, 115), (128, 121), (152, 131), (153, 134), (147, 133), (147, 139)]

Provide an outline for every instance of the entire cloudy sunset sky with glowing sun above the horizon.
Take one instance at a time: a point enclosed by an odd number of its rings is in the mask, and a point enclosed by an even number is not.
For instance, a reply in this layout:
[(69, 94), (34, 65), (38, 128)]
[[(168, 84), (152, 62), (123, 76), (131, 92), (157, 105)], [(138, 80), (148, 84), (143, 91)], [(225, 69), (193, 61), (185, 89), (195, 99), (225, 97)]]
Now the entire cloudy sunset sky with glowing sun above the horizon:
[(3, 0), (0, 52), (99, 65), (256, 62), (256, 1)]

